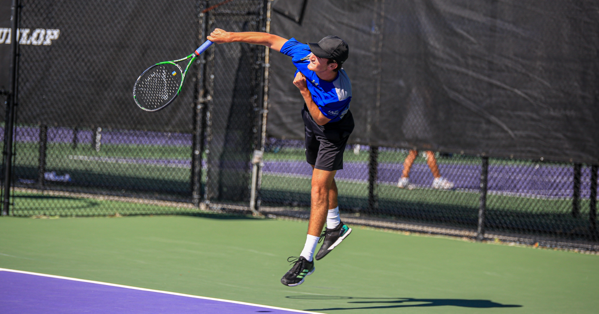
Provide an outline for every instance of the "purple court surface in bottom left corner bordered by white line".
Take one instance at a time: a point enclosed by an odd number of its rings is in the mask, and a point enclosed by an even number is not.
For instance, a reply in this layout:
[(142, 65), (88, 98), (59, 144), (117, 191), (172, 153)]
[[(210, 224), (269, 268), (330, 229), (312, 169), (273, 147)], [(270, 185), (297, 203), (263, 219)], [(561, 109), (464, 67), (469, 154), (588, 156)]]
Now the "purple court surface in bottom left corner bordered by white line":
[(3, 314), (313, 313), (10, 269), (0, 291)]

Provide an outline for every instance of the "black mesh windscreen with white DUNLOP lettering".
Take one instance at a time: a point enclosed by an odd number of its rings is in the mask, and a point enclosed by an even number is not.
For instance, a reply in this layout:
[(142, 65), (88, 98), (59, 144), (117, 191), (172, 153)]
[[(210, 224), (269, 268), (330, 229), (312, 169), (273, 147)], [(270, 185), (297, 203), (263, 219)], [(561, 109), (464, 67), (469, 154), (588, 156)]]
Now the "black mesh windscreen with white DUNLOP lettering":
[(151, 65), (198, 47), (199, 2), (21, 3), (19, 123), (190, 132), (192, 80), (164, 112), (139, 110), (132, 90)]

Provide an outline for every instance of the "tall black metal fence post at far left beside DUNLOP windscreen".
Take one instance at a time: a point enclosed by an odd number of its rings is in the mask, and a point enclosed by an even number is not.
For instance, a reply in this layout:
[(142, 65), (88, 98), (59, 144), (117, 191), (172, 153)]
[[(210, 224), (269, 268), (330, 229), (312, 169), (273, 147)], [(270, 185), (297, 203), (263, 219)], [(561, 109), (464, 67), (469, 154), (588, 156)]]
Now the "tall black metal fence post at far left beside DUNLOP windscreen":
[(14, 111), (17, 106), (17, 96), (19, 84), (19, 37), (17, 29), (19, 28), (19, 10), (20, 1), (13, 0), (11, 5), (10, 17), (10, 39), (11, 39), (11, 63), (10, 63), (10, 94), (6, 106), (6, 120), (4, 124), (4, 199), (2, 200), (2, 216), (8, 215), (10, 206), (10, 186), (13, 180), (13, 128), (14, 128)]

